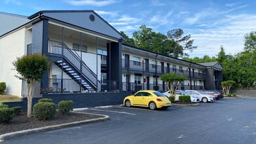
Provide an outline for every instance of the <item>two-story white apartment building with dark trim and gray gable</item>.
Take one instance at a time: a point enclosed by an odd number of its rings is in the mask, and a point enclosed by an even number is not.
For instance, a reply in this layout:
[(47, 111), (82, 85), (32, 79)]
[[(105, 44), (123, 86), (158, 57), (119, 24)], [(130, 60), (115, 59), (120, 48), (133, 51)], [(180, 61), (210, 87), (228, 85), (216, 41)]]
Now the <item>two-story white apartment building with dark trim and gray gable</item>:
[(206, 77), (206, 65), (122, 44), (125, 37), (93, 10), (46, 10), (29, 17), (1, 12), (0, 20), (0, 81), (7, 82), (8, 94), (26, 96), (26, 82), (14, 77), (12, 62), (34, 53), (50, 63), (37, 94), (164, 91), (164, 73), (187, 77), (179, 89), (199, 90), (214, 77)]

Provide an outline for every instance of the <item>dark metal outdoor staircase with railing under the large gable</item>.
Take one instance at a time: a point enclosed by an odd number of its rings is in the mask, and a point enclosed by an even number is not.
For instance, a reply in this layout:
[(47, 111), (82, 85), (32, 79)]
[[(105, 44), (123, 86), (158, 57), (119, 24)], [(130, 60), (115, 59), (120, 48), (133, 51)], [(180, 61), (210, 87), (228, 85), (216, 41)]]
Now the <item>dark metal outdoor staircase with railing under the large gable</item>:
[(84, 90), (93, 92), (100, 89), (97, 75), (84, 63), (77, 52), (72, 51), (62, 42), (49, 40), (48, 53), (62, 58), (54, 63)]

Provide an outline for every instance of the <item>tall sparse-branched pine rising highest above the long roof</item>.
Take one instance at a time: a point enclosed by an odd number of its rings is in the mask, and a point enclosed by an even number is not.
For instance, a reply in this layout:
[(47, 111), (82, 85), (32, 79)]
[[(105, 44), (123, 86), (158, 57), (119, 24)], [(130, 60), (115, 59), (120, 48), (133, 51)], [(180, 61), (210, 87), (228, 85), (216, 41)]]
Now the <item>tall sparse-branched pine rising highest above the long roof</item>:
[(188, 54), (184, 53), (184, 50), (189, 50), (192, 52), (197, 46), (192, 46), (194, 40), (191, 39), (191, 35), (183, 36), (184, 32), (182, 29), (172, 29), (168, 31), (167, 36), (169, 39), (175, 42), (174, 47), (174, 58), (188, 56)]

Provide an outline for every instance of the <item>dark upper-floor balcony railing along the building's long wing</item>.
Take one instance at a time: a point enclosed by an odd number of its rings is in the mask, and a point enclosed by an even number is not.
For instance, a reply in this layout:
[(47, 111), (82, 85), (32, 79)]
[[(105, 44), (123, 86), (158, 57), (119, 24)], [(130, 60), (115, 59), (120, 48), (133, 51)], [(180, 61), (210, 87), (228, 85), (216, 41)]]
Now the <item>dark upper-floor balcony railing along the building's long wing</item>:
[[(184, 69), (176, 69), (173, 67), (162, 67), (161, 65), (155, 65), (151, 63), (142, 63), (132, 60), (122, 59), (122, 69), (129, 71), (141, 71), (144, 73), (155, 73), (162, 75), (164, 73), (175, 73), (176, 75), (185, 75), (189, 77), (189, 71)], [(204, 73), (196, 73), (191, 71), (191, 77), (197, 79), (205, 79)]]

